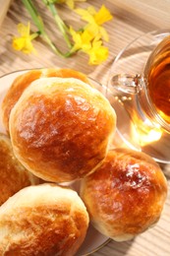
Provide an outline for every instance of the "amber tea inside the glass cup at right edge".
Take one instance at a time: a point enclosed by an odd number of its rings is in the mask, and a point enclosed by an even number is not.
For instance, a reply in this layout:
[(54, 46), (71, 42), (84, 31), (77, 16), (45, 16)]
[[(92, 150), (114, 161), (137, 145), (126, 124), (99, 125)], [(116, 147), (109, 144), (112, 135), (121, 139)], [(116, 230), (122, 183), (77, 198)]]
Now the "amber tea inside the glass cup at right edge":
[[(159, 116), (170, 124), (170, 36), (151, 55), (147, 70), (147, 90)], [(149, 61), (148, 61), (149, 63)]]

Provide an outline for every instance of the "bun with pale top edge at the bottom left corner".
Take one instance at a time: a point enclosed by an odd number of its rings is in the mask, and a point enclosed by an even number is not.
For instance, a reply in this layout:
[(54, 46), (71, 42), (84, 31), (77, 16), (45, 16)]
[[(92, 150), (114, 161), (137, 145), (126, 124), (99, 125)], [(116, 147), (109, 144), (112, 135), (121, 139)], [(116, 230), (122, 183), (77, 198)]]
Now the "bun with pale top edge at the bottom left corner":
[(77, 192), (54, 184), (29, 186), (0, 208), (0, 255), (74, 255), (88, 215)]

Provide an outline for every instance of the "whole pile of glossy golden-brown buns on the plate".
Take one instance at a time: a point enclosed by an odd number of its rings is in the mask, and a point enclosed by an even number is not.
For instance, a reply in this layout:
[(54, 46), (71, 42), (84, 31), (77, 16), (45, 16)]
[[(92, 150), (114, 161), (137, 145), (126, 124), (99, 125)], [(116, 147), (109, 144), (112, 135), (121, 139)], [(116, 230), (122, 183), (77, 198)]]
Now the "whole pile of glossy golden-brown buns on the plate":
[[(28, 71), (1, 108), (14, 158), (27, 177), (13, 193), (11, 183), (5, 188), (12, 197), (0, 207), (1, 255), (75, 255), (88, 216), (115, 240), (131, 239), (158, 221), (167, 194), (160, 167), (145, 154), (110, 150), (116, 113), (84, 74)], [(21, 174), (10, 171), (20, 183)], [(61, 186), (76, 180), (80, 195)]]

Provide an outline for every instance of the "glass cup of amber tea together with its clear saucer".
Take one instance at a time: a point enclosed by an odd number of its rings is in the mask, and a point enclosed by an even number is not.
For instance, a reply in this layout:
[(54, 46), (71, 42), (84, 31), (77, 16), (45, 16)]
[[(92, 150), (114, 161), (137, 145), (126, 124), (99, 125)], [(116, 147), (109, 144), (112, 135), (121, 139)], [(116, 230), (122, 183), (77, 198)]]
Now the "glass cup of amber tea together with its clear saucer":
[(169, 163), (170, 32), (146, 33), (118, 54), (107, 96), (127, 146)]

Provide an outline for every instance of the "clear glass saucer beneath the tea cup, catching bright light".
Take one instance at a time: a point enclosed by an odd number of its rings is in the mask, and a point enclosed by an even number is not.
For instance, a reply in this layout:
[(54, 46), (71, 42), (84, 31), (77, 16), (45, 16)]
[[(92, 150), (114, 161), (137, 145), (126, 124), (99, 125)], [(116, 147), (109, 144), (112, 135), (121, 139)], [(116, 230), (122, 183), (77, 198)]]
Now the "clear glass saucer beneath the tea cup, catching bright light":
[[(170, 134), (152, 126), (148, 119), (137, 121), (134, 112), (139, 109), (138, 96), (118, 92), (111, 85), (111, 78), (118, 74), (142, 74), (151, 51), (169, 34), (170, 30), (148, 32), (129, 43), (113, 61), (107, 85), (107, 97), (116, 110), (117, 133), (124, 147), (142, 151), (163, 163), (170, 163)], [(120, 140), (113, 144), (119, 146)]]

